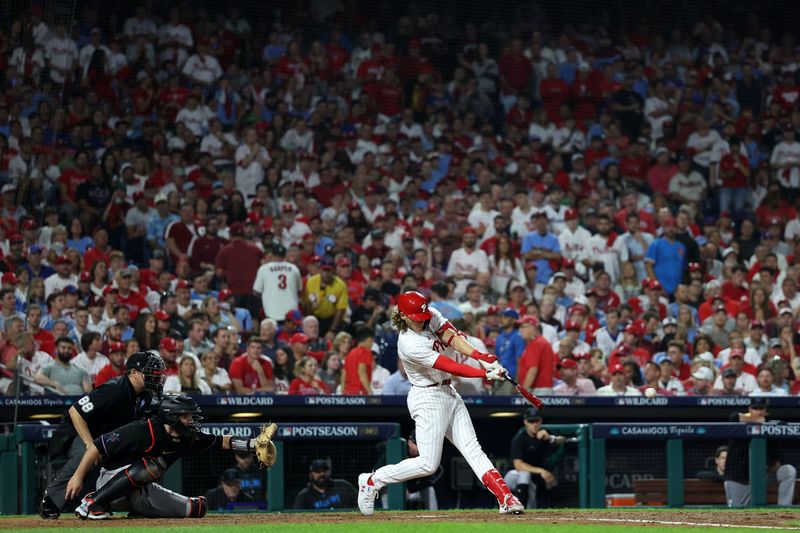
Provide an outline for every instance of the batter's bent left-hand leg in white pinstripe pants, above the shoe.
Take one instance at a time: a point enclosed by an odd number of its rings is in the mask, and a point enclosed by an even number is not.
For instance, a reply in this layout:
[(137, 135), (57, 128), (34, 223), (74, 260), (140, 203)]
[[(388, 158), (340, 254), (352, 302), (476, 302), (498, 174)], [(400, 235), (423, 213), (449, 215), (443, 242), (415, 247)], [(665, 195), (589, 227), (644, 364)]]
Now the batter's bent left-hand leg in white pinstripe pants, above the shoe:
[(377, 489), (390, 483), (430, 476), (442, 460), (444, 436), (453, 412), (452, 401), (439, 391), (415, 387), (408, 395), (408, 409), (416, 424), (419, 457), (376, 470), (372, 474), (372, 483)]

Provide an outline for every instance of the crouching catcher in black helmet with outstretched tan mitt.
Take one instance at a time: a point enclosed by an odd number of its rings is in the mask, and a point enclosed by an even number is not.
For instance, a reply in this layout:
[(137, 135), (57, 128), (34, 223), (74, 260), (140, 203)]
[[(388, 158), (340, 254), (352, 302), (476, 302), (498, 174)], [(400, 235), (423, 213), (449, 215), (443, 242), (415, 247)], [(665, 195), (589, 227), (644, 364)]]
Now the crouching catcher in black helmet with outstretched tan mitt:
[(255, 453), (262, 466), (275, 464), (275, 424), (262, 427), (255, 438), (243, 439), (201, 433), (202, 419), (191, 397), (170, 395), (162, 399), (153, 418), (131, 422), (94, 439), (67, 484), (67, 499), (77, 496), (86, 474), (100, 464), (97, 490), (81, 500), (75, 515), (103, 520), (111, 511), (128, 511), (129, 517), (200, 518), (208, 509), (204, 496), (183, 496), (156, 483), (184, 454), (243, 450)]

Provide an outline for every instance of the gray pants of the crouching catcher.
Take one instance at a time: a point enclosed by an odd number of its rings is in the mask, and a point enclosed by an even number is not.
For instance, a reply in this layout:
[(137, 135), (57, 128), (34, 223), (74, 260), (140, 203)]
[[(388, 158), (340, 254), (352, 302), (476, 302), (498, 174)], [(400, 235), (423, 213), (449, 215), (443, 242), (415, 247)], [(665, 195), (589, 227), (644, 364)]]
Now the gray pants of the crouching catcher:
[[(97, 489), (128, 466), (116, 470), (101, 468)], [(188, 496), (165, 489), (158, 483), (149, 483), (111, 502), (111, 510), (134, 512), (146, 518), (186, 518), (189, 516), (190, 505)]]

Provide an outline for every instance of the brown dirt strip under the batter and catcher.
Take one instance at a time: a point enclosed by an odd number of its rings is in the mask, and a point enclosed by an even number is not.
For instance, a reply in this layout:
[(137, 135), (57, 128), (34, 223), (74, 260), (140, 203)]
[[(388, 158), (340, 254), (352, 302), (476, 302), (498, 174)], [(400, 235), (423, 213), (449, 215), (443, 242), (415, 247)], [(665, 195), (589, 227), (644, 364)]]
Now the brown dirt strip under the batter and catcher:
[(679, 527), (731, 527), (760, 526), (760, 528), (786, 528), (800, 530), (795, 526), (800, 514), (791, 511), (692, 511), (692, 510), (568, 510), (568, 511), (530, 511), (522, 516), (498, 516), (489, 511), (416, 511), (416, 512), (379, 512), (372, 518), (352, 513), (253, 513), (235, 515), (214, 515), (201, 519), (179, 521), (161, 519), (127, 519), (122, 516), (110, 520), (88, 521), (74, 517), (63, 517), (60, 520), (41, 520), (38, 517), (0, 519), (0, 529), (23, 530), (29, 528), (73, 528), (73, 527), (142, 527), (149, 529), (167, 529), (170, 526), (186, 525), (257, 525), (281, 523), (326, 524), (354, 523), (363, 521), (380, 521), (394, 523), (408, 522), (493, 522), (509, 520), (517, 523), (545, 524), (594, 524), (602, 526), (614, 524), (627, 525), (631, 528), (647, 526), (679, 526)]

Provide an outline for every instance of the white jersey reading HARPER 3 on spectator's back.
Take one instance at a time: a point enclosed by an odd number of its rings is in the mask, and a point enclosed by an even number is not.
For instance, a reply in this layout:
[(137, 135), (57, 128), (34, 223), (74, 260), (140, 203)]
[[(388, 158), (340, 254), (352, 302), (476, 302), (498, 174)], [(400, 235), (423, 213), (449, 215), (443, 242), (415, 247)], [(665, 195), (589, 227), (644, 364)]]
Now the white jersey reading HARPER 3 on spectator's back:
[(264, 314), (274, 320), (283, 320), (286, 313), (297, 309), (298, 294), (303, 278), (300, 269), (286, 261), (273, 261), (261, 265), (253, 282), (253, 290), (261, 293)]

